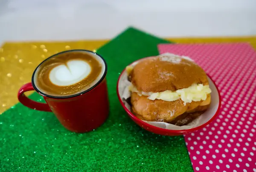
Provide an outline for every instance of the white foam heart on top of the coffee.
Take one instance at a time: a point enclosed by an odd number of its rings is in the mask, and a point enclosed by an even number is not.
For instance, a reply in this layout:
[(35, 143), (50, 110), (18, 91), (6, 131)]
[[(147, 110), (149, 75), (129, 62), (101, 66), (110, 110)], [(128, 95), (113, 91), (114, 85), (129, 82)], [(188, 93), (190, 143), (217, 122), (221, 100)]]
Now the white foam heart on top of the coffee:
[(68, 86), (73, 85), (91, 72), (90, 65), (83, 60), (70, 60), (67, 65), (58, 65), (49, 73), (49, 79), (54, 85)]

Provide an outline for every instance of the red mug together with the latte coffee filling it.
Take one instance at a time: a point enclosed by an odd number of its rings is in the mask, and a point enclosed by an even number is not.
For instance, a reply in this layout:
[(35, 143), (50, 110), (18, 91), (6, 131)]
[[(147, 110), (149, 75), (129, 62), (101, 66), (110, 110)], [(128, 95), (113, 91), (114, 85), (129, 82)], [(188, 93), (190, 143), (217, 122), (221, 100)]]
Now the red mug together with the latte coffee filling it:
[[(33, 109), (53, 112), (70, 131), (96, 129), (108, 118), (107, 64), (99, 54), (69, 50), (54, 54), (35, 69), (32, 81), (20, 87), (19, 101)], [(24, 94), (35, 90), (46, 103)]]

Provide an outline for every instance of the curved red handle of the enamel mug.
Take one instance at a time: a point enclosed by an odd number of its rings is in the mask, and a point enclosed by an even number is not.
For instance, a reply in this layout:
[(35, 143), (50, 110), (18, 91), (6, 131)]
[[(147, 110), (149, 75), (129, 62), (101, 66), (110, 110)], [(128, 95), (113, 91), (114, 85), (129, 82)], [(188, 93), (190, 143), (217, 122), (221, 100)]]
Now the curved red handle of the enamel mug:
[(31, 99), (29, 99), (24, 93), (26, 91), (33, 91), (35, 90), (34, 87), (32, 86), (32, 83), (26, 83), (22, 87), (20, 87), (20, 90), (18, 91), (18, 99), (20, 103), (25, 105), (26, 107), (29, 107), (31, 109), (35, 110), (40, 110), (40, 111), (47, 111), (47, 112), (52, 112), (51, 108), (47, 103), (39, 103), (35, 102)]

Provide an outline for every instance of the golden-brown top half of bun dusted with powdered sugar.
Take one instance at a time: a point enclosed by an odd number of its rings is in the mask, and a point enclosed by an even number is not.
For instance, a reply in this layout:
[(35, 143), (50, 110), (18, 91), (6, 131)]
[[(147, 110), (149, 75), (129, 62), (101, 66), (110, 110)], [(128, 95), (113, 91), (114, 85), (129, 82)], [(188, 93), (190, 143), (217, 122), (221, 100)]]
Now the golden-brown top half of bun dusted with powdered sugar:
[(175, 91), (192, 84), (209, 85), (207, 75), (200, 66), (178, 57), (143, 59), (135, 65), (130, 76), (132, 84), (145, 92)]

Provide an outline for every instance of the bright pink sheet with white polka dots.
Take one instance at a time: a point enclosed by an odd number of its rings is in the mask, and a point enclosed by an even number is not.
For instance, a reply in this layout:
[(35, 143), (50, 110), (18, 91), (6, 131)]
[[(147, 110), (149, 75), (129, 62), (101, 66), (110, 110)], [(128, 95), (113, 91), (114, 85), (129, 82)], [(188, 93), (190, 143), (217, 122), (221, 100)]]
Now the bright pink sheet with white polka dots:
[(194, 171), (256, 172), (256, 52), (247, 43), (161, 44), (195, 60), (221, 92), (215, 120), (184, 135)]

